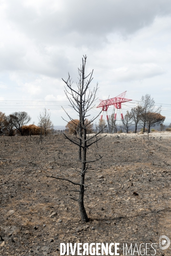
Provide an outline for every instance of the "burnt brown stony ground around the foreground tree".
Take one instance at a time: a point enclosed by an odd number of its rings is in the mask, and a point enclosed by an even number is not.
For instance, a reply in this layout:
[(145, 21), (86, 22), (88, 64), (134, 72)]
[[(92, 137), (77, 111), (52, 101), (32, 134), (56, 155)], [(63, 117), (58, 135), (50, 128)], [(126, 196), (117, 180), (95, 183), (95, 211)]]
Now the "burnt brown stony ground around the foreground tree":
[(61, 242), (156, 243), (157, 256), (170, 255), (159, 236), (171, 239), (171, 137), (159, 135), (108, 135), (88, 149), (90, 160), (103, 154), (86, 174), (88, 223), (70, 199), (77, 186), (46, 177), (79, 182), (75, 145), (64, 135), (39, 144), (37, 136), (0, 137), (0, 256), (55, 256)]

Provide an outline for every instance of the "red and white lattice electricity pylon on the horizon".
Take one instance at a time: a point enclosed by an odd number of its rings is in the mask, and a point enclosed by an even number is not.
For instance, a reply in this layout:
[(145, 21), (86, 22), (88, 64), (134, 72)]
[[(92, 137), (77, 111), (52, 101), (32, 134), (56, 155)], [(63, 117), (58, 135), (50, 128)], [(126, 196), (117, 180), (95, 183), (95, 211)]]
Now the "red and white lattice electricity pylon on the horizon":
[(106, 100), (101, 100), (100, 99), (101, 102), (100, 102), (99, 106), (97, 106), (97, 108), (102, 108), (101, 118), (100, 119), (103, 118), (103, 112), (105, 111), (106, 112), (107, 124), (108, 124), (108, 127), (109, 127), (109, 131), (110, 131), (110, 125), (109, 125), (109, 118), (108, 118), (108, 115), (107, 115), (107, 109), (111, 105), (115, 106), (114, 120), (116, 120), (117, 110), (119, 109), (120, 113), (121, 113), (121, 120), (122, 120), (122, 122), (124, 124), (124, 117), (123, 117), (122, 110), (121, 110), (121, 103), (128, 102), (128, 101), (132, 100), (132, 99), (126, 99), (125, 98), (125, 93), (126, 92), (127, 91), (125, 91), (124, 93), (119, 94), (118, 96), (116, 96), (115, 98), (112, 98), (112, 99), (106, 99)]

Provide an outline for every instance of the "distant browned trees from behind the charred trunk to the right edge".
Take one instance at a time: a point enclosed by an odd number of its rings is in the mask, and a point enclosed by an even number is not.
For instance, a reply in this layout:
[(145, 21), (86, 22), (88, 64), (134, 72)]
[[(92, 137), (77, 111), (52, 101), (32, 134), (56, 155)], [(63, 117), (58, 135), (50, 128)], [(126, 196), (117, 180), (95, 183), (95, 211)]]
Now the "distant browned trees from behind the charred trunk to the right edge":
[[(142, 126), (142, 132), (147, 131), (150, 133), (151, 127), (159, 125), (159, 130), (171, 131), (171, 124), (168, 128), (163, 125), (165, 121), (165, 116), (160, 114), (161, 106), (159, 108), (155, 108), (154, 99), (151, 98), (150, 95), (146, 94), (142, 96), (141, 103), (136, 107), (132, 108), (130, 111), (124, 116), (123, 124), (117, 125), (117, 120), (114, 119), (114, 112), (109, 116), (109, 125), (110, 129), (107, 127), (104, 119), (100, 119), (98, 124), (92, 124), (87, 127), (87, 133), (93, 133), (102, 130), (102, 133), (111, 132), (129, 132), (134, 125), (134, 133), (137, 132), (138, 125)], [(86, 119), (86, 122), (89, 123), (89, 120)], [(73, 119), (68, 122), (66, 125), (66, 131), (69, 131), (70, 134), (75, 134), (77, 130), (77, 126), (79, 125), (78, 119)], [(94, 128), (95, 127), (95, 128)]]

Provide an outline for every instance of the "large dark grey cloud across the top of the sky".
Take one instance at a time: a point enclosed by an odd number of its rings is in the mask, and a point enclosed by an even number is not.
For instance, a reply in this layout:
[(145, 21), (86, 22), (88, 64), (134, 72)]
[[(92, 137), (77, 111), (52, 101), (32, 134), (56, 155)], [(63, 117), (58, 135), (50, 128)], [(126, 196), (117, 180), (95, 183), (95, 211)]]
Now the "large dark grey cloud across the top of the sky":
[(52, 11), (52, 3), (49, 1), (48, 7), (47, 2), (46, 9), (38, 12), (33, 7), (26, 8), (21, 0), (11, 0), (7, 15), (31, 38), (77, 45), (91, 45), (97, 37), (100, 44), (108, 33), (125, 36), (148, 26), (156, 16), (171, 15), (170, 0), (65, 0), (56, 11)]

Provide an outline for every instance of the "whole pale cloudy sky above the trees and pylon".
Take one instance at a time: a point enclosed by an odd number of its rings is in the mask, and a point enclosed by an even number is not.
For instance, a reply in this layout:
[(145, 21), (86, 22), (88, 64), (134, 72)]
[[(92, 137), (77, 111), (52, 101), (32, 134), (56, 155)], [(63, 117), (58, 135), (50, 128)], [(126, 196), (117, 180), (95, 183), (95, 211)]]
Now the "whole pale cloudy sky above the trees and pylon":
[(61, 78), (76, 82), (85, 54), (99, 99), (127, 90), (125, 113), (148, 93), (171, 122), (170, 0), (0, 0), (0, 111), (76, 118)]

